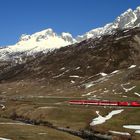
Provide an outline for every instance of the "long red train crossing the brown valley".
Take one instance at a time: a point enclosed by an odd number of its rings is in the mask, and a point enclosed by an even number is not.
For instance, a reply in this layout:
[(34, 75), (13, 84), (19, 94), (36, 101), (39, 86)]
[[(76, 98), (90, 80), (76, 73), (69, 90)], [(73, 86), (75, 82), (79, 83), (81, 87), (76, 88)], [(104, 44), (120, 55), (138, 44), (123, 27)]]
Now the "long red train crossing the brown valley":
[(132, 106), (132, 107), (140, 107), (140, 102), (137, 101), (97, 101), (97, 100), (70, 100), (70, 104), (77, 105), (99, 105), (99, 106)]

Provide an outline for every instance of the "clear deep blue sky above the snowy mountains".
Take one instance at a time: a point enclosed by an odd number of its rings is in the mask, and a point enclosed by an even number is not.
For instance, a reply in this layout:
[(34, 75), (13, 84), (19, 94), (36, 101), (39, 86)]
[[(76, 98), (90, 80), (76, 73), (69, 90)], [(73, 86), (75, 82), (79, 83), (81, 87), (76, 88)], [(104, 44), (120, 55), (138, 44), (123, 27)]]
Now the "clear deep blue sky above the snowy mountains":
[(0, 46), (47, 28), (83, 34), (139, 5), (139, 0), (0, 0)]

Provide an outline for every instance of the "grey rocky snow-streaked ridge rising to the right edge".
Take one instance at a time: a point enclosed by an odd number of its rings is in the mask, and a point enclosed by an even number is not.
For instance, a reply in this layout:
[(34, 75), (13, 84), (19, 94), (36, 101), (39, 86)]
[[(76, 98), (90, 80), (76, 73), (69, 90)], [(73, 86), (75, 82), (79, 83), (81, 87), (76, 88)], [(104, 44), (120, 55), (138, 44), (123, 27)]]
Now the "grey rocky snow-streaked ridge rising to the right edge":
[(140, 27), (140, 7), (137, 7), (136, 10), (128, 9), (126, 12), (118, 16), (114, 22), (93, 29), (87, 32), (84, 35), (78, 36), (77, 41), (83, 41), (89, 38), (96, 38), (105, 34), (112, 34), (116, 29), (127, 29), (133, 28), (135, 26)]

